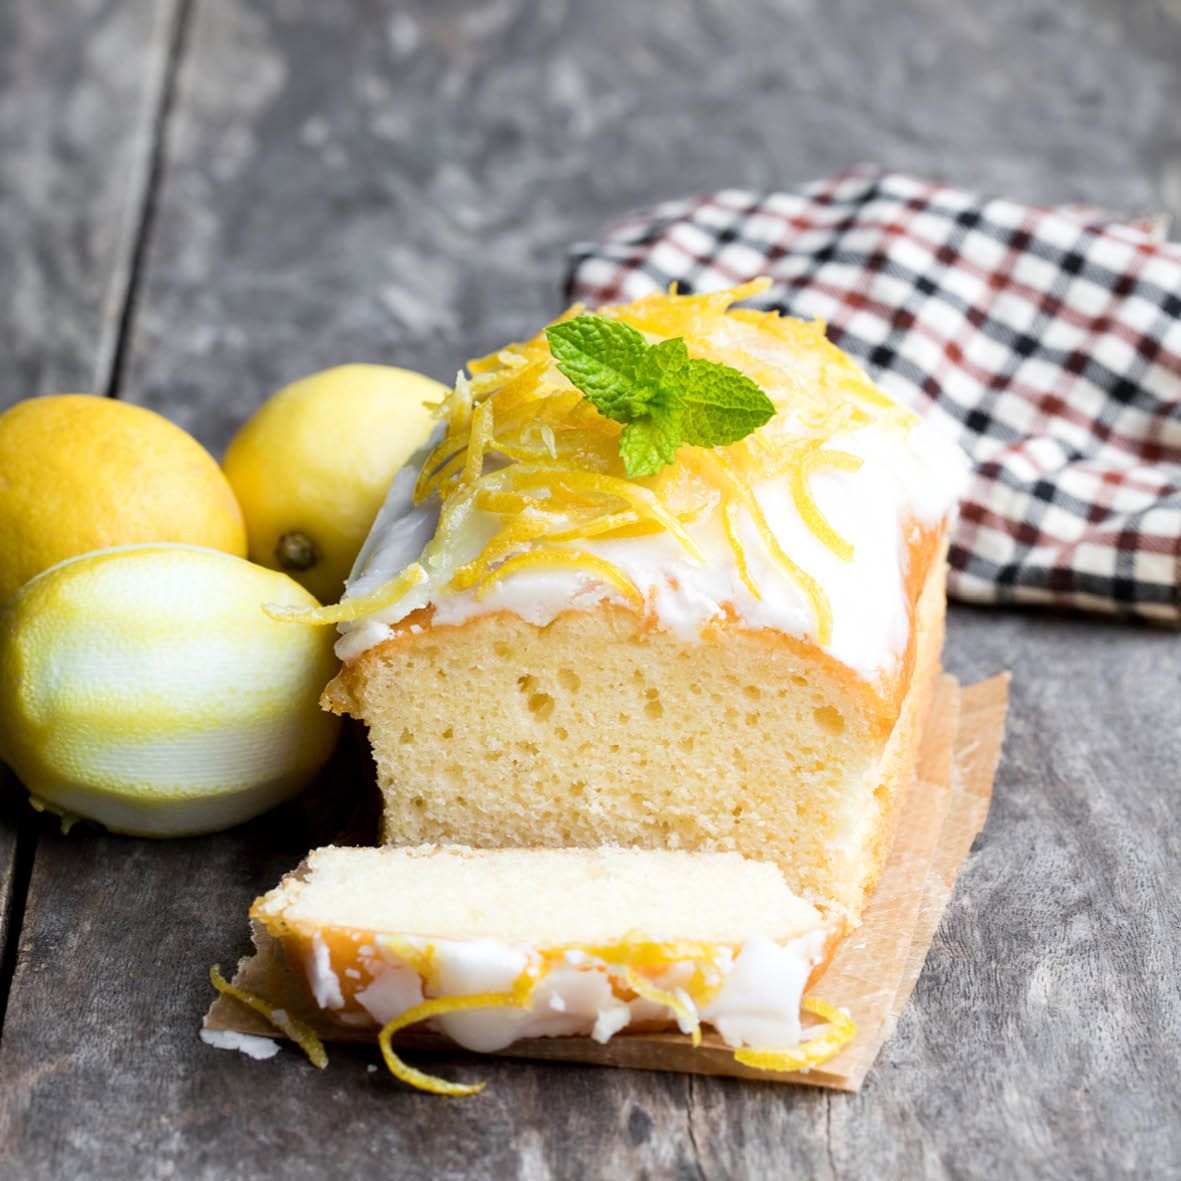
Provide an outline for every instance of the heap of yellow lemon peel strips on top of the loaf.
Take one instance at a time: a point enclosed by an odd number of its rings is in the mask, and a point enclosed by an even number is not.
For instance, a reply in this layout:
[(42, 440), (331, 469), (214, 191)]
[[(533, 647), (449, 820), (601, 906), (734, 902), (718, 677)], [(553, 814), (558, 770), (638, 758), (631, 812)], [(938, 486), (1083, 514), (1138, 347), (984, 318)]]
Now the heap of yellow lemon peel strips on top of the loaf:
[[(426, 578), (475, 510), (498, 517), (481, 552), (450, 573), (446, 586), (483, 598), (524, 569), (576, 569), (609, 585), (637, 612), (644, 596), (615, 565), (579, 542), (666, 531), (692, 561), (702, 553), (687, 526), (718, 513), (739, 575), (761, 598), (740, 536), (745, 517), (766, 556), (798, 587), (829, 642), (831, 607), (821, 585), (783, 552), (755, 495), (785, 482), (811, 533), (842, 561), (853, 547), (828, 522), (811, 492), (821, 470), (855, 471), (861, 459), (830, 441), (872, 423), (908, 430), (916, 417), (881, 393), (824, 335), (820, 320), (731, 305), (768, 289), (756, 279), (729, 291), (679, 295), (673, 289), (596, 314), (622, 320), (650, 339), (681, 337), (693, 357), (740, 370), (776, 405), (759, 430), (725, 448), (683, 446), (658, 475), (628, 479), (619, 456), (620, 424), (599, 413), (557, 370), (544, 333), (468, 365), (439, 407), (443, 438), (423, 463), (415, 501), (442, 501), (435, 536), (419, 562), (377, 590), (335, 607), (274, 612), (307, 624), (348, 622), (394, 606)], [(575, 305), (560, 319), (579, 315)], [(784, 357), (792, 365), (784, 366)]]

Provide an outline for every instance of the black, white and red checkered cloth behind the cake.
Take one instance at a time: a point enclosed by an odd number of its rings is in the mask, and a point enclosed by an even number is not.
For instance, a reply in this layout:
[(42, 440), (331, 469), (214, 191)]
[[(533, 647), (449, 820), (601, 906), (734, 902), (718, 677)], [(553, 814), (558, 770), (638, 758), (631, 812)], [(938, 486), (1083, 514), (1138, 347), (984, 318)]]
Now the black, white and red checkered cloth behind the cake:
[(1181, 621), (1181, 244), (879, 170), (670, 201), (574, 248), (587, 304), (716, 291), (828, 321), (974, 463), (950, 592)]

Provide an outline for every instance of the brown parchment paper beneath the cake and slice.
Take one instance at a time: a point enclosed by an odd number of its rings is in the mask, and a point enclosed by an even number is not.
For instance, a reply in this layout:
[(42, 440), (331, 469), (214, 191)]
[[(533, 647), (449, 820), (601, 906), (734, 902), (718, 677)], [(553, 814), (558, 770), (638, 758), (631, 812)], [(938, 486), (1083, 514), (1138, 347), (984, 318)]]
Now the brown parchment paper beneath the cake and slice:
[[(693, 1048), (680, 1033), (618, 1033), (606, 1045), (590, 1038), (534, 1038), (517, 1042), (503, 1056), (586, 1062), (642, 1070), (733, 1075), (855, 1091), (864, 1081), (911, 996), (927, 958), (968, 849), (984, 827), (992, 779), (1000, 757), (1007, 704), (1007, 676), (961, 689), (940, 678), (919, 750), (915, 781), (901, 805), (901, 820), (881, 881), (862, 925), (837, 948), (809, 993), (847, 1009), (857, 1036), (835, 1058), (803, 1074), (755, 1070), (735, 1062), (733, 1050), (713, 1032)], [(255, 954), (243, 959), (234, 983), (307, 1022), (325, 1040), (374, 1042), (372, 1031), (350, 1031), (327, 1023), (309, 1005), (288, 972), (279, 945), (254, 926)], [(985, 965), (981, 965), (981, 971)], [(252, 1009), (218, 997), (205, 1014), (205, 1029), (279, 1036)], [(398, 1046), (446, 1050), (441, 1035), (406, 1030)]]

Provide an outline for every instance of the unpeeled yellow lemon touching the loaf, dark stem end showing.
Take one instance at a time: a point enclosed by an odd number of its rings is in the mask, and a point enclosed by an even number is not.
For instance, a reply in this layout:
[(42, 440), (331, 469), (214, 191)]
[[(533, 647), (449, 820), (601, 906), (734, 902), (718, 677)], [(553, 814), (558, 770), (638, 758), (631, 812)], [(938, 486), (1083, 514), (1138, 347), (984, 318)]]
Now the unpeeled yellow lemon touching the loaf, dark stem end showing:
[(430, 436), (446, 389), (387, 365), (341, 365), (280, 390), (239, 431), (223, 469), (250, 560), (335, 602), (390, 481)]

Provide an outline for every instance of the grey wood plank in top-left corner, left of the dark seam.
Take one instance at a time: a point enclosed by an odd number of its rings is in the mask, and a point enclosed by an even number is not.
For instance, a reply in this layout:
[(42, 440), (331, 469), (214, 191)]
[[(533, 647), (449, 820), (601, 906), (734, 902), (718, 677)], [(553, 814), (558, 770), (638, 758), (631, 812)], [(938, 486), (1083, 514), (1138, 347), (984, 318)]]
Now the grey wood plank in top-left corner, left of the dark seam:
[(180, 4), (0, 5), (0, 410), (107, 391)]

